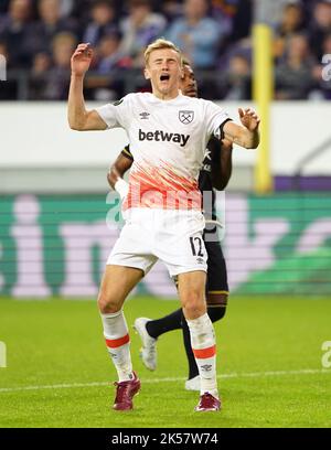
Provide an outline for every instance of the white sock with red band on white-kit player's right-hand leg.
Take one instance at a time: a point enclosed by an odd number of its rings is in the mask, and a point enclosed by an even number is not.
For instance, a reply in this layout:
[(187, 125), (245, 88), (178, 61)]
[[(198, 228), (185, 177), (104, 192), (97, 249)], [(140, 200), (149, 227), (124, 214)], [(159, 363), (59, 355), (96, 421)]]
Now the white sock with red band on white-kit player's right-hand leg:
[(216, 342), (212, 321), (207, 313), (188, 320), (191, 345), (201, 379), (201, 395), (210, 393), (218, 398), (216, 379)]

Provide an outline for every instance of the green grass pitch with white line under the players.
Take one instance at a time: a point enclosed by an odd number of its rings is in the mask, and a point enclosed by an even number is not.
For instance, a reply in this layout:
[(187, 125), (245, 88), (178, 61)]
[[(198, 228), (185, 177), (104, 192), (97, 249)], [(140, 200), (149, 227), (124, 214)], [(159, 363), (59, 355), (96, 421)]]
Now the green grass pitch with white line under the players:
[[(137, 317), (158, 318), (178, 301), (131, 298)], [(197, 393), (183, 388), (186, 362), (180, 331), (159, 339), (158, 368), (142, 366), (131, 332), (134, 367), (142, 382), (132, 411), (110, 409), (115, 369), (94, 301), (0, 299), (0, 427), (331, 427), (331, 301), (235, 298), (215, 324), (221, 413), (194, 413)], [(331, 361), (331, 357), (330, 357)]]

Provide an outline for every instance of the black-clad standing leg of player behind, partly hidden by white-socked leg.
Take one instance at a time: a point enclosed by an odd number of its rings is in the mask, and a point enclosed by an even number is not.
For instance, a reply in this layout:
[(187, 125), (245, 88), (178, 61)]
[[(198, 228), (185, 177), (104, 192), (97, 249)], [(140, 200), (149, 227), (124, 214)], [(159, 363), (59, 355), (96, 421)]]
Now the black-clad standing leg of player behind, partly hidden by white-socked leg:
[[(207, 314), (214, 323), (221, 320), (226, 311), (228, 285), (226, 264), (222, 247), (218, 242), (205, 242), (207, 251), (207, 281), (206, 281), (206, 304)], [(189, 362), (189, 376), (185, 382), (188, 390), (200, 390), (199, 368), (192, 352), (189, 326), (183, 318), (183, 341)]]

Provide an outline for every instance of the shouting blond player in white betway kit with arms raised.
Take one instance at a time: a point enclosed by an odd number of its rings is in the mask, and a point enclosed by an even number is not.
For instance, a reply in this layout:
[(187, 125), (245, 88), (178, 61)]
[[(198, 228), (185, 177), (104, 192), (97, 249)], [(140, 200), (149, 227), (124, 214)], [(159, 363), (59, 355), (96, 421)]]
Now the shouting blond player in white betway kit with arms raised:
[(109, 255), (98, 296), (106, 345), (119, 378), (114, 409), (132, 409), (132, 397), (140, 389), (132, 371), (122, 304), (161, 259), (170, 276), (178, 277), (200, 372), (201, 395), (195, 410), (220, 410), (215, 334), (204, 300), (206, 251), (197, 175), (211, 136), (256, 148), (259, 118), (250, 109), (239, 109), (244, 124), (239, 126), (212, 101), (181, 95), (181, 53), (164, 40), (157, 40), (145, 52), (145, 76), (151, 82), (151, 94), (129, 94), (113, 105), (87, 111), (83, 79), (92, 57), (89, 44), (79, 44), (72, 56), (70, 126), (79, 131), (121, 127), (134, 156), (122, 205), (126, 224)]

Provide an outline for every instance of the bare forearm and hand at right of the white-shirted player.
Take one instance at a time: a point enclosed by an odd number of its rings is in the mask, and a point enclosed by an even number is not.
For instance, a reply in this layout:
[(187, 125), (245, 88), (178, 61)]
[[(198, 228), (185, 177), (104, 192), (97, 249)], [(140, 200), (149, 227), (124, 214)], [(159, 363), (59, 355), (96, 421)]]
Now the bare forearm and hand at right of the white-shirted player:
[(237, 143), (245, 149), (256, 149), (259, 144), (259, 122), (260, 119), (250, 108), (238, 109), (243, 126), (227, 121), (224, 127), (224, 137), (231, 142)]

